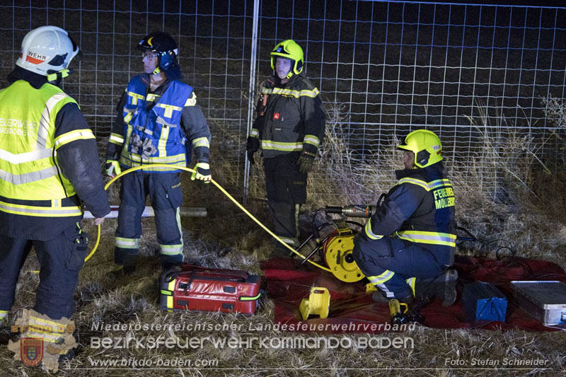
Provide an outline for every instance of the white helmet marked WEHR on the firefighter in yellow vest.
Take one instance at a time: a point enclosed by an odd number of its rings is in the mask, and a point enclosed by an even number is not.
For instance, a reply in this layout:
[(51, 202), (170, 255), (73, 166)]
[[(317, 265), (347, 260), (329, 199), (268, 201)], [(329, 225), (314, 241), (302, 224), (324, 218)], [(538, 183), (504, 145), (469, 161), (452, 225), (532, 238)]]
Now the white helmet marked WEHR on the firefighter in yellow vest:
[(17, 66), (42, 76), (67, 69), (79, 47), (67, 31), (57, 26), (41, 26), (23, 37)]

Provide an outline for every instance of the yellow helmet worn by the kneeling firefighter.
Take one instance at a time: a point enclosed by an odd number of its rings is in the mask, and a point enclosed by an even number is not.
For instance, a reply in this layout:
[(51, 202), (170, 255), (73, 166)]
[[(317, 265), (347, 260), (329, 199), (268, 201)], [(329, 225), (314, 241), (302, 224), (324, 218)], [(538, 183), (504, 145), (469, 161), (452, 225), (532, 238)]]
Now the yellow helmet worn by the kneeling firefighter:
[(426, 168), (442, 160), (440, 139), (428, 129), (417, 129), (405, 137), (398, 149), (415, 153), (415, 168)]

